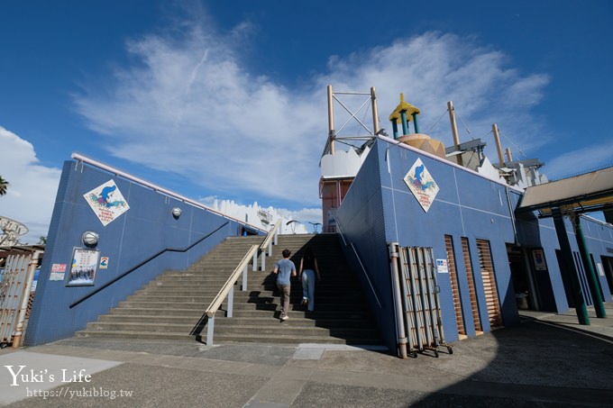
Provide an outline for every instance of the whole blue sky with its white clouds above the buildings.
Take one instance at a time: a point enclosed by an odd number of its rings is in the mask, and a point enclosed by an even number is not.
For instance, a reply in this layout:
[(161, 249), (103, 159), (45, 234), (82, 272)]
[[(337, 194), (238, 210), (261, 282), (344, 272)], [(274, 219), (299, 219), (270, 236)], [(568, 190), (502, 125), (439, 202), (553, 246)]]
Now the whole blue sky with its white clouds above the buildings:
[(204, 203), (319, 221), (328, 84), (375, 86), (388, 130), (404, 93), (446, 146), (452, 100), (462, 141), (497, 161), (496, 122), (550, 178), (613, 162), (613, 3), (423, 3), (0, 2), (0, 215), (46, 235), (78, 152)]

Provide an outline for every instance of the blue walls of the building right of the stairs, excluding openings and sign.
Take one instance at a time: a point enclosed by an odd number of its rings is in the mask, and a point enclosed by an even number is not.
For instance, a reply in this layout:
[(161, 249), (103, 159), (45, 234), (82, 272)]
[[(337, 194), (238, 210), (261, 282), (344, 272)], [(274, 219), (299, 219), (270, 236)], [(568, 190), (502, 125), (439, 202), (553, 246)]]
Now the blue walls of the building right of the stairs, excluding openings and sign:
[[(440, 188), (427, 213), (404, 181), (416, 159), (422, 160)], [(381, 332), (390, 349), (396, 349), (396, 323), (391, 294), (388, 242), (398, 242), (401, 247), (432, 247), (435, 258), (447, 258), (444, 236), (452, 237), (463, 318), (468, 335), (474, 335), (475, 330), (470, 302), (467, 301), (469, 289), (463, 262), (462, 237), (469, 242), (483, 331), (489, 331), (490, 327), (476, 240), (489, 241), (504, 325), (516, 324), (519, 321), (507, 244), (520, 244), (527, 249), (544, 249), (548, 270), (534, 272), (539, 281), (539, 295), (542, 296), (540, 304), (544, 310), (568, 310), (563, 280), (555, 256), (555, 249), (559, 249), (559, 245), (554, 223), (549, 219), (537, 219), (535, 214), (524, 214), (516, 220), (514, 212), (521, 196), (522, 193), (516, 189), (480, 177), (465, 168), (453, 166), (444, 159), (433, 158), (406, 145), (383, 139), (375, 141), (337, 211), (337, 221), (346, 239), (358, 250), (375, 286), (375, 292), (380, 295), (381, 307), (372, 299), (371, 307), (377, 315)], [(601, 262), (600, 256), (607, 256), (607, 246), (613, 248), (613, 232), (610, 226), (601, 222), (585, 217), (582, 217), (581, 222), (590, 252), (596, 262)], [(567, 231), (570, 231), (573, 251), (578, 251), (569, 222)], [(351, 259), (352, 255), (348, 254), (348, 258)], [(355, 262), (353, 267), (357, 270)], [(439, 273), (437, 279), (441, 286), (445, 340), (458, 340), (449, 274)], [(610, 301), (606, 278), (599, 276), (599, 282), (606, 300)], [(365, 293), (372, 297), (368, 287)]]

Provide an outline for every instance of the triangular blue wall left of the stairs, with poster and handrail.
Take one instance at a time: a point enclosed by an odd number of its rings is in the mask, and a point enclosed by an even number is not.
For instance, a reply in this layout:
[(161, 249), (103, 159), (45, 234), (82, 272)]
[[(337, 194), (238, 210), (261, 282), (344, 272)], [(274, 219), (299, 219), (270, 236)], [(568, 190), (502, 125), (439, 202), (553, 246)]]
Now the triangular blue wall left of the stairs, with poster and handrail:
[[(83, 195), (111, 179), (124, 195), (130, 209), (103, 226)], [(174, 207), (182, 210), (178, 219), (171, 214)], [(72, 336), (75, 331), (84, 329), (87, 322), (96, 321), (98, 315), (107, 313), (165, 269), (187, 268), (227, 236), (239, 235), (242, 227), (241, 222), (184, 203), (99, 168), (66, 161), (24, 343), (37, 345)], [(85, 231), (99, 234), (96, 249), (99, 249), (100, 257), (109, 258), (108, 268), (97, 269), (94, 286), (67, 286), (73, 249), (84, 248), (81, 236)], [(194, 248), (185, 252), (164, 252), (114, 285), (69, 307), (161, 250), (186, 249), (208, 234), (211, 235)], [(53, 264), (66, 265), (63, 280), (50, 280)]]

